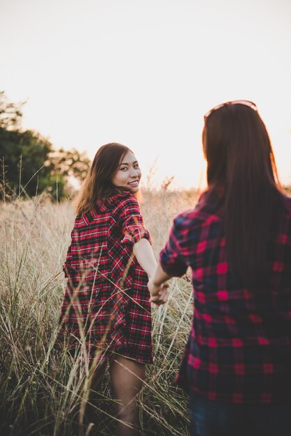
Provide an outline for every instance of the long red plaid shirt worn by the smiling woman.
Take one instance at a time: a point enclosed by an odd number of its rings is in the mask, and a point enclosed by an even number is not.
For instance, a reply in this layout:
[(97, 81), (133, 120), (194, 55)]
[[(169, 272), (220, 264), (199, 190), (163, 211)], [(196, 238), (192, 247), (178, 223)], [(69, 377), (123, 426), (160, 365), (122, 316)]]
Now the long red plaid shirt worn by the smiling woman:
[(148, 276), (132, 253), (150, 240), (134, 195), (122, 192), (97, 201), (74, 221), (63, 265), (68, 285), (61, 306), (59, 338), (96, 353), (118, 352), (152, 362)]

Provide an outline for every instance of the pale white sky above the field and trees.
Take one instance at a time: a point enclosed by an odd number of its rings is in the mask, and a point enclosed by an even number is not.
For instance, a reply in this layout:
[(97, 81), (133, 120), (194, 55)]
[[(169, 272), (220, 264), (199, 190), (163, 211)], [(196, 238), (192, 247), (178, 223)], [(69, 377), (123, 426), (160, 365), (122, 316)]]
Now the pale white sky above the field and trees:
[(253, 100), (291, 184), (290, 0), (0, 0), (0, 89), (56, 148), (197, 186), (203, 114)]

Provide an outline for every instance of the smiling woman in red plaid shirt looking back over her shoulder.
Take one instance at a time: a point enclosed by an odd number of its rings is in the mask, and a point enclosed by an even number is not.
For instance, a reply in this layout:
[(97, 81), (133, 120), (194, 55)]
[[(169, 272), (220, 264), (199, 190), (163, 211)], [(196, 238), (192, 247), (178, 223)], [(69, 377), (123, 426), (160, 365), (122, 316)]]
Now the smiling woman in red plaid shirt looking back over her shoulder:
[(77, 197), (64, 264), (68, 285), (59, 336), (90, 361), (93, 390), (109, 360), (118, 436), (139, 434), (136, 396), (152, 363), (147, 283), (157, 263), (136, 198), (140, 178), (126, 146), (108, 143), (97, 150)]

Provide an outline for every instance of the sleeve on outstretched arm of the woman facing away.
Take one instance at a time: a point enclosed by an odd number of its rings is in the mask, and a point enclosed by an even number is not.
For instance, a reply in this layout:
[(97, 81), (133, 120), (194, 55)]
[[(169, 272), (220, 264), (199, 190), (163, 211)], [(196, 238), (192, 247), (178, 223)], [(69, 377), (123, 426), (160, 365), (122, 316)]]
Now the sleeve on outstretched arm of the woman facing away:
[(171, 228), (166, 246), (159, 254), (159, 262), (167, 274), (181, 277), (187, 271), (187, 262), (182, 256), (181, 241), (184, 239), (182, 217), (177, 217)]

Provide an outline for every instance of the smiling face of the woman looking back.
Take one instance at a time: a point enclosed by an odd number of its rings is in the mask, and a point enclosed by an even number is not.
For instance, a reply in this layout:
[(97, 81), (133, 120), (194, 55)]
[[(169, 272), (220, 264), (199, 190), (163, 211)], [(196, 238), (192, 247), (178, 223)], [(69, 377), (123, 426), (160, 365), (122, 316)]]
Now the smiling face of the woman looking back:
[(141, 169), (139, 162), (131, 151), (127, 151), (120, 160), (118, 169), (111, 182), (116, 187), (128, 189), (131, 192), (138, 192)]

